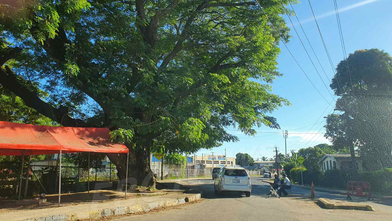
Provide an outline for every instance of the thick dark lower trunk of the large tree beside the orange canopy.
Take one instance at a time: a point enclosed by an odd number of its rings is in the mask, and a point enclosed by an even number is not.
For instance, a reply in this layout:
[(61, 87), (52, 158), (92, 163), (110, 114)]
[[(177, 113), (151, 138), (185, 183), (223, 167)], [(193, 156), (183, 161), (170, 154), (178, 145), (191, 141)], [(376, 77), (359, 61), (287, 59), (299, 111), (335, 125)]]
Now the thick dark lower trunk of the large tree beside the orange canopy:
[[(155, 187), (156, 178), (150, 168), (149, 148), (127, 146), (129, 148), (128, 183)], [(127, 169), (127, 155), (109, 153), (107, 156), (116, 165), (118, 178), (124, 180)]]

